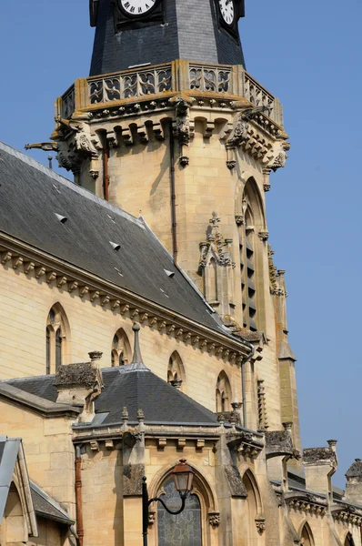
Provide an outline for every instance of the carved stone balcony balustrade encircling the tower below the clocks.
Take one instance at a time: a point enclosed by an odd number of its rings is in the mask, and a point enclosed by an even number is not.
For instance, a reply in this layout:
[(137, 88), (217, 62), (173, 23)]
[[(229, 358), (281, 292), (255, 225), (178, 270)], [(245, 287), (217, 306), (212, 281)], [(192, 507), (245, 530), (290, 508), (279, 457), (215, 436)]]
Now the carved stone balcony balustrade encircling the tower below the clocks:
[[(58, 98), (56, 116), (69, 119), (74, 114), (168, 99), (179, 94), (208, 98), (209, 104), (246, 99), (246, 106), (265, 106), (268, 117), (283, 126), (283, 111), (276, 96), (269, 93), (242, 66), (202, 65), (185, 60), (157, 66), (137, 66), (126, 71), (77, 79)], [(221, 102), (220, 102), (221, 99)], [(154, 103), (155, 107), (158, 103)], [(225, 105), (226, 106), (226, 105)], [(147, 106), (148, 107), (148, 106)]]

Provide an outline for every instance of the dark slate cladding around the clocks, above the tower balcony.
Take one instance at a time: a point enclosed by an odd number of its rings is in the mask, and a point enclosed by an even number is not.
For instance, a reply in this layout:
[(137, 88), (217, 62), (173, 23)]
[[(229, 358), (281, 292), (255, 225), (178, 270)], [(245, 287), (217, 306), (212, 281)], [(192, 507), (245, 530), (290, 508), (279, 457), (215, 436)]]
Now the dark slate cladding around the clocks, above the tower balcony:
[[(163, 11), (154, 20), (117, 25), (115, 0), (98, 0), (96, 4), (93, 0), (96, 8), (91, 12), (91, 23), (96, 26), (96, 38), (91, 76), (176, 59), (244, 65), (237, 25), (234, 36), (222, 27), (218, 0), (160, 2)], [(235, 4), (239, 19), (244, 15), (244, 2), (235, 0)]]

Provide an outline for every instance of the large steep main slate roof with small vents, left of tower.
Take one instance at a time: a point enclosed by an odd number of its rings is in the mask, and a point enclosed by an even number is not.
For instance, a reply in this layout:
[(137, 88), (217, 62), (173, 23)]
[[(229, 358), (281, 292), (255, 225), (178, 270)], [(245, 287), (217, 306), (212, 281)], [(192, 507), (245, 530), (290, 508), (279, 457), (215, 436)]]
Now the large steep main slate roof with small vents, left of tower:
[(1, 142), (0, 232), (231, 337), (142, 218)]

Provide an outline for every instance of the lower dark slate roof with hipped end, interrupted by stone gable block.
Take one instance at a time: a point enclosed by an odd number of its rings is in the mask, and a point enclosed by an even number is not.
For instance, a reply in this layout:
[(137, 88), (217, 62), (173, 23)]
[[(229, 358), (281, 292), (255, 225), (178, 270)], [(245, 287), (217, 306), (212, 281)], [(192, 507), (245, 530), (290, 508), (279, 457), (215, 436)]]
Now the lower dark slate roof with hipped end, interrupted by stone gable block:
[[(141, 409), (148, 424), (168, 423), (206, 427), (219, 425), (215, 413), (160, 379), (146, 369), (144, 364), (102, 369), (102, 375), (105, 389), (95, 401), (97, 418), (92, 428), (122, 423), (122, 411), (125, 406), (130, 423), (137, 422), (137, 410)], [(54, 375), (9, 379), (4, 382), (53, 402), (57, 397)]]

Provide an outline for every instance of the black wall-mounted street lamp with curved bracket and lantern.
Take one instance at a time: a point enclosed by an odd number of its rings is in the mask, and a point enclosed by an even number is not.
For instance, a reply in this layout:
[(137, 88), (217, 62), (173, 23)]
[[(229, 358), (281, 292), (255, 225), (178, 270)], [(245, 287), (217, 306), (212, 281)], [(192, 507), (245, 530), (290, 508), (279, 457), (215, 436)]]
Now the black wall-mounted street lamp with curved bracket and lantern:
[(186, 463), (187, 463), (186, 459), (181, 459), (180, 464), (176, 464), (176, 467), (174, 468), (174, 470), (172, 470), (172, 473), (171, 473), (175, 482), (175, 488), (179, 492), (181, 501), (182, 501), (181, 508), (177, 511), (168, 510), (165, 502), (159, 497), (155, 497), (155, 499), (148, 499), (146, 476), (144, 476), (143, 483), (142, 483), (142, 520), (143, 520), (142, 534), (144, 537), (144, 546), (147, 546), (148, 509), (150, 504), (152, 504), (152, 502), (161, 502), (165, 510), (169, 514), (172, 514), (173, 516), (176, 516), (177, 514), (180, 514), (182, 511), (185, 510), (186, 498), (187, 498), (187, 495), (192, 490), (192, 481), (194, 480), (194, 471)]

